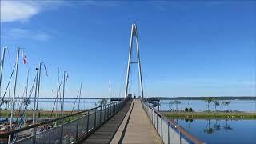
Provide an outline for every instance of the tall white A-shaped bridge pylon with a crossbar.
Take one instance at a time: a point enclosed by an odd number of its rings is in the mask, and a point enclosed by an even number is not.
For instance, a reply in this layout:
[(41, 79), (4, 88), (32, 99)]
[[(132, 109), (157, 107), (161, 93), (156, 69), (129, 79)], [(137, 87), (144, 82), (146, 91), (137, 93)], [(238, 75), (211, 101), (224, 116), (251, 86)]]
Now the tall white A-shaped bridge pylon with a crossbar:
[[(134, 38), (136, 39), (137, 62), (131, 62)], [(139, 57), (139, 47), (138, 47), (138, 31), (137, 31), (137, 26), (135, 24), (131, 25), (131, 32), (130, 32), (130, 49), (129, 49), (129, 59), (128, 59), (128, 66), (127, 66), (127, 73), (126, 73), (126, 94), (125, 94), (125, 98), (128, 96), (130, 65), (131, 64), (138, 64), (138, 78), (139, 78), (140, 92), (142, 94), (141, 95), (142, 98), (144, 98), (143, 83), (142, 83), (142, 68), (141, 68), (141, 60), (140, 60), (140, 57)]]

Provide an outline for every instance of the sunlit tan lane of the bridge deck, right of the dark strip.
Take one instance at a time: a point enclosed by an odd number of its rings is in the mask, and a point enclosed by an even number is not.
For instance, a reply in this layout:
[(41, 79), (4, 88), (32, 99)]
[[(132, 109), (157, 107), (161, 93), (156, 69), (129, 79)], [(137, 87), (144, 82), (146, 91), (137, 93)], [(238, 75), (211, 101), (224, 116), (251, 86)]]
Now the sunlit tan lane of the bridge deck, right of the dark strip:
[(135, 99), (132, 106), (110, 143), (162, 143), (162, 139), (142, 108), (142, 102)]

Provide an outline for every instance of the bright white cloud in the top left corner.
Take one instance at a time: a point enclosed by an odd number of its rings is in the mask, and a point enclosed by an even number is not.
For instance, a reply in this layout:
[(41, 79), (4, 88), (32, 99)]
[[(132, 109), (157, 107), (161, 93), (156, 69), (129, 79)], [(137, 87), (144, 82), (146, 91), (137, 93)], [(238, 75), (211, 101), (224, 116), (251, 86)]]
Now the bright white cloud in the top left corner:
[(1, 22), (26, 21), (38, 12), (39, 6), (30, 3), (1, 1)]

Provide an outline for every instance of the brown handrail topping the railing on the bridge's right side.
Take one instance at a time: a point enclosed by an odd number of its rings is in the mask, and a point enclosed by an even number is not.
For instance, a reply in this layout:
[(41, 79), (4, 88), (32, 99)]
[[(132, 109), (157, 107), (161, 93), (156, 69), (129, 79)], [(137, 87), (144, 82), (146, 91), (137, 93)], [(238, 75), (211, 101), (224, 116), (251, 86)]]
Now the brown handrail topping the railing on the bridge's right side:
[[(145, 102), (144, 100), (142, 100), (142, 102)], [(160, 114), (158, 112), (158, 110), (155, 110), (154, 107), (150, 106), (148, 102), (145, 102), (146, 106), (150, 107), (150, 109), (154, 110), (155, 114), (158, 114), (158, 116), (164, 120), (166, 120), (166, 122), (170, 123), (171, 126), (174, 126), (176, 129), (178, 129), (180, 131), (181, 134), (185, 135), (187, 138), (190, 139), (190, 141), (197, 143), (197, 144), (203, 144), (205, 142), (202, 142), (201, 140), (199, 140), (198, 138), (194, 137), (193, 134), (190, 134), (190, 132), (188, 132), (187, 130), (185, 130), (182, 126), (178, 125), (178, 123), (174, 122), (174, 120), (170, 120), (169, 118), (166, 118), (165, 116), (163, 116), (162, 114)]]

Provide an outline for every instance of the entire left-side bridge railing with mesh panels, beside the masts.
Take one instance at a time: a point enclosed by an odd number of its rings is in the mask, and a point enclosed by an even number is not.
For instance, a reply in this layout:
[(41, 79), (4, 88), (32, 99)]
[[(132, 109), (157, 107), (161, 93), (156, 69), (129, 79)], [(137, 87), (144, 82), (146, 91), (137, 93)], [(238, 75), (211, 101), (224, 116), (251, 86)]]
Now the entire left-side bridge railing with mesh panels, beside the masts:
[[(62, 118), (55, 118), (47, 122), (41, 122), (30, 126), (22, 127), (18, 130), (12, 130), (2, 134), (7, 136), (9, 134), (21, 134), (30, 131), (26, 138), (18, 138), (15, 144), (35, 144), (35, 143), (74, 143), (81, 140), (86, 134), (96, 130), (104, 122), (110, 119), (114, 114), (122, 109), (127, 99), (122, 102), (112, 102), (104, 106), (94, 107), (90, 110), (83, 110), (76, 114), (70, 114)], [(74, 118), (77, 116), (78, 118)], [(70, 120), (70, 119), (74, 120)], [(69, 120), (69, 122), (66, 122)], [(33, 134), (33, 130), (40, 129), (40, 126), (52, 125), (53, 122), (61, 122), (58, 126), (43, 130), (37, 134)]]

